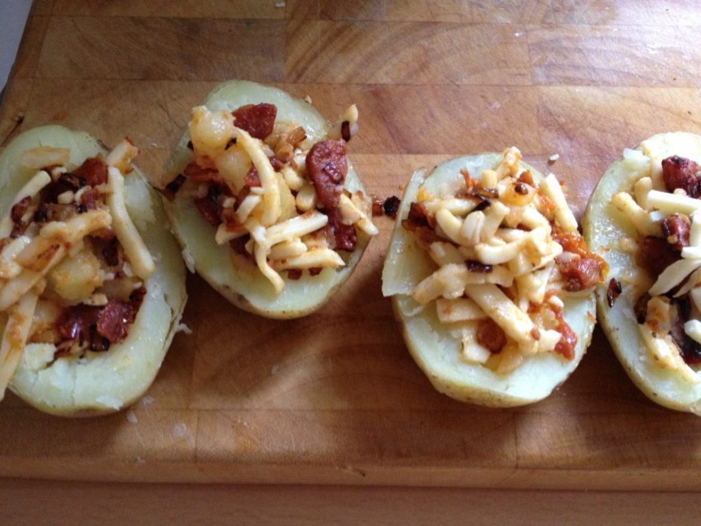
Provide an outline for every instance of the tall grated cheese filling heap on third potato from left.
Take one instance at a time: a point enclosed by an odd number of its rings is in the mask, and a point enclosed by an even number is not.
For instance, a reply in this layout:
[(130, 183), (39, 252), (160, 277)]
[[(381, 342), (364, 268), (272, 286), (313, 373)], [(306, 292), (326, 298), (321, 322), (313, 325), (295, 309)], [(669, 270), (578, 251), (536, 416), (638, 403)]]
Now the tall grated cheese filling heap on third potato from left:
[[(512, 147), (479, 179), (466, 170), (433, 195), (423, 184), (402, 226), (436, 269), (411, 295), (461, 339), (461, 358), (499, 374), (525, 357), (575, 356), (563, 298), (590, 295), (607, 266), (587, 248), (553, 174), (536, 184)], [(435, 304), (435, 305), (433, 305)]]

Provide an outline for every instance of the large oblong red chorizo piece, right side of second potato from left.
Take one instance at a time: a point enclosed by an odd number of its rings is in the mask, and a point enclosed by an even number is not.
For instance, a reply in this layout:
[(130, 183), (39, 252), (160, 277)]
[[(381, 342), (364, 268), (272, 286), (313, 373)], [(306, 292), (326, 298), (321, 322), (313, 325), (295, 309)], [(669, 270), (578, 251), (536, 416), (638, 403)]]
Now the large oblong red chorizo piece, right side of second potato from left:
[(346, 143), (340, 139), (317, 142), (307, 154), (306, 168), (319, 201), (326, 208), (335, 208), (348, 173)]

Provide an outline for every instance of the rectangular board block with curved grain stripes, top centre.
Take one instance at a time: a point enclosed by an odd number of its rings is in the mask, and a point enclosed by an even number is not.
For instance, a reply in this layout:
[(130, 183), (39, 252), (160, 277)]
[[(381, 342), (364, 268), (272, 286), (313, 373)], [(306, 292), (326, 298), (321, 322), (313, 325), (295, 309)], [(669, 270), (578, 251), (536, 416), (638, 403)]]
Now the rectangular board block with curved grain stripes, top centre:
[(526, 39), (511, 25), (287, 23), (285, 77), (367, 84), (531, 83)]

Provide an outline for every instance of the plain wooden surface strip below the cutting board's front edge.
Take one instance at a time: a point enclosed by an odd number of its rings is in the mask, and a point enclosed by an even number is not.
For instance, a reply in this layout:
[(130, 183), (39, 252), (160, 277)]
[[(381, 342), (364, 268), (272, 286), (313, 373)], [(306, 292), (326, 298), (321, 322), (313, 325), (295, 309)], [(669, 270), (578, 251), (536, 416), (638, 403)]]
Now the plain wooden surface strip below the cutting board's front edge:
[[(334, 524), (678, 525), (697, 522), (695, 493), (538, 492), (398, 487), (134, 485), (3, 480), (4, 523), (111, 526)], [(36, 498), (41, 495), (41, 498)], [(31, 502), (31, 506), (27, 503)], [(76, 506), (80, 502), (80, 506)], [(645, 505), (641, 506), (641, 502)], [(565, 519), (566, 518), (566, 519)]]

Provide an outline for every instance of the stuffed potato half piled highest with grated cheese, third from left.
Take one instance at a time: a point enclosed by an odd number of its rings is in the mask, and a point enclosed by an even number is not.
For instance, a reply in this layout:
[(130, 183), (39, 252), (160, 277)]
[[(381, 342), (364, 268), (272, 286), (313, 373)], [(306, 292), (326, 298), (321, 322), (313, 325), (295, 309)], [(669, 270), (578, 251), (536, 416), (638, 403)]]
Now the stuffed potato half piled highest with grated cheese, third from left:
[[(559, 259), (590, 258), (597, 281), (605, 271), (579, 243), (559, 182), (550, 175), (544, 185), (520, 159), (511, 148), (414, 173), (382, 274), (407, 348), (435, 389), (491, 407), (545, 398), (590, 343), (593, 285), (564, 290)], [(536, 201), (550, 212), (523, 212)], [(529, 313), (529, 304), (539, 306)]]

